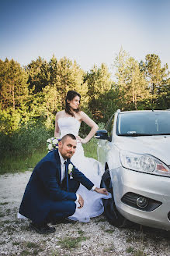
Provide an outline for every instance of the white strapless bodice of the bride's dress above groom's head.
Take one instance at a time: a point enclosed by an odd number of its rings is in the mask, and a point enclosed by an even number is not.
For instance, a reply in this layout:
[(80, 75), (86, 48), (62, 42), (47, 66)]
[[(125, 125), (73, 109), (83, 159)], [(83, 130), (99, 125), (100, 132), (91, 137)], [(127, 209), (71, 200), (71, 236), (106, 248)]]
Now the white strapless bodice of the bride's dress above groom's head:
[(75, 117), (61, 117), (58, 119), (58, 126), (60, 128), (60, 137), (63, 137), (65, 134), (72, 133), (75, 136), (78, 136), (78, 131), (80, 129), (80, 122)]

